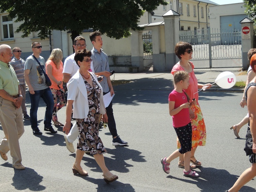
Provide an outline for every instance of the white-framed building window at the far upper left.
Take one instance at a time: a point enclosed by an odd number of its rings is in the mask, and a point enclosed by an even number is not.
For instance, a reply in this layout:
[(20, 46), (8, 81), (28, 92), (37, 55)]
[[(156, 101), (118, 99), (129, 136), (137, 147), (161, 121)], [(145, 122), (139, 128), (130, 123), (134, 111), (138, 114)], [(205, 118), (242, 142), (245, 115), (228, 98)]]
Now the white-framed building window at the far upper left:
[(14, 38), (14, 33), (13, 33), (13, 19), (8, 16), (1, 16), (2, 20), (2, 34), (3, 34), (3, 39), (10, 39)]

